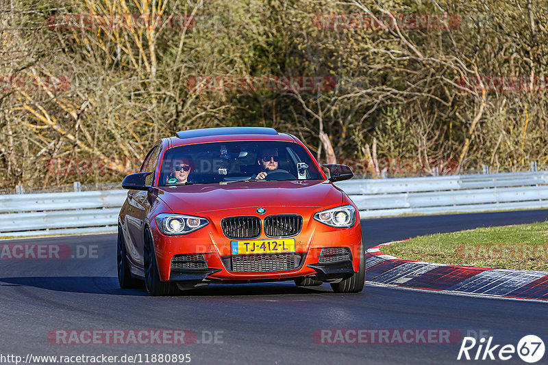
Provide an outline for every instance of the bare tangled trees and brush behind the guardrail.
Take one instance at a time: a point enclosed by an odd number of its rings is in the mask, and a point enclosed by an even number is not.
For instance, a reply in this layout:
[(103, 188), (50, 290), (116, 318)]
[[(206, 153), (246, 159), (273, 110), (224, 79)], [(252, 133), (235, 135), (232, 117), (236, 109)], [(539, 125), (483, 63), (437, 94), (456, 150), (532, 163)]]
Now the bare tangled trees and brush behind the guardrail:
[[(149, 26), (99, 21), (128, 14)], [(321, 14), (450, 22), (322, 26)], [(192, 23), (169, 21), (182, 15)], [(0, 0), (0, 189), (119, 181), (157, 139), (212, 126), (271, 126), (373, 175), (544, 168), (547, 61), (541, 0)], [(335, 84), (207, 91), (189, 85), (197, 75)]]

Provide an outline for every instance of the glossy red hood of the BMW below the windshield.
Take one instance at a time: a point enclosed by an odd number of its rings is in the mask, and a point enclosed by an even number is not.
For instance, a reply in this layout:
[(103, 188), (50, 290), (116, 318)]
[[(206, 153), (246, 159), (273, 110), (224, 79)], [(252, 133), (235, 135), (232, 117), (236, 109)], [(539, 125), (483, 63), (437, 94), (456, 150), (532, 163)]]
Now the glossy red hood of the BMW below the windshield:
[(198, 214), (259, 206), (336, 206), (343, 192), (329, 181), (255, 181), (159, 188), (174, 213)]

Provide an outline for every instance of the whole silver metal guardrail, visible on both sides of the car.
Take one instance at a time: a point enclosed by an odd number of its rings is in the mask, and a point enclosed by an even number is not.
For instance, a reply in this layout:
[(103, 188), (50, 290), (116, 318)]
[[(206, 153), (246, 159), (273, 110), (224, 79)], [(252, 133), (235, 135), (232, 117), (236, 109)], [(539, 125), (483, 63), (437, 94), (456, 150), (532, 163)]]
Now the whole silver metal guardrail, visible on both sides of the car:
[[(548, 208), (548, 172), (348, 180), (360, 217)], [(0, 195), (0, 236), (111, 232), (127, 191)]]

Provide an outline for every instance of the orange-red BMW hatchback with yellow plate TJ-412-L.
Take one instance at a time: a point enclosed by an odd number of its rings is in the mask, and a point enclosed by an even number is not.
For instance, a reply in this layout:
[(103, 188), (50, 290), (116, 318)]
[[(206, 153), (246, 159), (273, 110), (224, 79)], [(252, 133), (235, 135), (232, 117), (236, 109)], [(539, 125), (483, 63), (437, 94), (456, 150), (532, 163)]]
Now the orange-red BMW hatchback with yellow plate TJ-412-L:
[(121, 288), (150, 295), (210, 283), (294, 280), (360, 292), (358, 209), (297, 137), (271, 128), (182, 131), (158, 141), (128, 189), (118, 220)]

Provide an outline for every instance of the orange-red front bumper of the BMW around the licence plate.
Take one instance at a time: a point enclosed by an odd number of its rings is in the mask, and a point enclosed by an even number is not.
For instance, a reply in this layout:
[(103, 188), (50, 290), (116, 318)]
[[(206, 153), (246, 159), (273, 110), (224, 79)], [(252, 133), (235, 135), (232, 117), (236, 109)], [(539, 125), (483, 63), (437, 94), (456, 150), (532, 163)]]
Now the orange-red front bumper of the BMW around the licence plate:
[[(245, 215), (245, 212), (238, 211), (232, 215)], [(208, 218), (210, 222), (221, 221), (216, 217), (200, 216)], [(362, 254), (359, 219), (356, 219), (356, 224), (350, 228), (332, 228), (312, 219), (310, 211), (307, 215), (301, 213), (301, 216), (303, 217), (301, 231), (296, 236), (290, 237), (295, 239), (295, 254), (299, 256), (298, 266), (282, 271), (232, 271), (229, 264), (232, 255), (230, 247), (232, 239), (227, 238), (216, 224), (208, 224), (200, 230), (182, 236), (164, 236), (152, 222), (151, 231), (160, 279), (170, 282), (188, 282), (188, 284), (192, 282), (271, 282), (305, 277), (329, 281), (348, 278), (358, 272), (360, 254)], [(256, 239), (269, 239), (269, 237), (262, 232)], [(327, 247), (348, 247), (351, 260), (319, 263), (321, 249)], [(203, 254), (207, 269), (171, 269), (173, 256), (179, 254)]]

